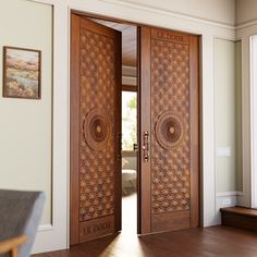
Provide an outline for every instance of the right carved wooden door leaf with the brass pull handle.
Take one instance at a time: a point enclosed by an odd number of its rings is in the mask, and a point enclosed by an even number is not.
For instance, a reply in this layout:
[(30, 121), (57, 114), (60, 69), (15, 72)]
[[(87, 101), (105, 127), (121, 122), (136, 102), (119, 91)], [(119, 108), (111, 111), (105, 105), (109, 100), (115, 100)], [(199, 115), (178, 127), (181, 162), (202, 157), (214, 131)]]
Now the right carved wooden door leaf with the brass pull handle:
[(198, 37), (140, 27), (139, 40), (139, 233), (198, 227)]

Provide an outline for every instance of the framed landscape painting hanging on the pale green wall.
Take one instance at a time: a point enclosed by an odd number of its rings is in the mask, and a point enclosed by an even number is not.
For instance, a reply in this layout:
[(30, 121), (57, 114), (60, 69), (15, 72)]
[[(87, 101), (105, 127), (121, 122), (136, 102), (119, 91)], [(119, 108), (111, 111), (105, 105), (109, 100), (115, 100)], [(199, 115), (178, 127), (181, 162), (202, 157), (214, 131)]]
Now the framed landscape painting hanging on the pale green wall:
[(40, 99), (41, 51), (3, 47), (3, 97)]

